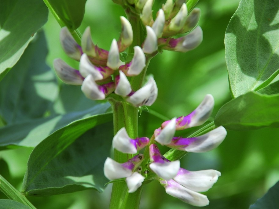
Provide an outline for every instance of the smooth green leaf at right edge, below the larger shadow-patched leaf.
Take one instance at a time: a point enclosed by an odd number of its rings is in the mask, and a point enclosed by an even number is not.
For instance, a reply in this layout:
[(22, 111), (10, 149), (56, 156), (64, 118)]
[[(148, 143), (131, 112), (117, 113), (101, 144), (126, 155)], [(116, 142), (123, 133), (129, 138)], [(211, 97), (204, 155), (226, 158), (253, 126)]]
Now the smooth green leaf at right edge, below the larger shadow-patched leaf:
[(279, 127), (278, 106), (279, 94), (248, 92), (223, 105), (214, 122), (232, 130)]

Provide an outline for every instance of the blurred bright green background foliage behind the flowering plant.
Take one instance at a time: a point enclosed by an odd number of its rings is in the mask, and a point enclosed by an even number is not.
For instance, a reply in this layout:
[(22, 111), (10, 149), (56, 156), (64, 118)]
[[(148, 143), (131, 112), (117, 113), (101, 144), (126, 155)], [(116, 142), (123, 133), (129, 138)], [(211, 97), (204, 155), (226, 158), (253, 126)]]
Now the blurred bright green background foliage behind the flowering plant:
[[(165, 1), (155, 0), (153, 15)], [(151, 137), (153, 130), (163, 122), (152, 113), (167, 117), (178, 117), (190, 113), (202, 101), (206, 94), (215, 98), (215, 108), (208, 122), (213, 121), (218, 109), (231, 99), (225, 63), (224, 34), (229, 20), (237, 9), (239, 0), (200, 0), (196, 5), (202, 11), (199, 25), (204, 32), (202, 44), (187, 53), (164, 51), (151, 60), (147, 74), (153, 74), (159, 94), (156, 102), (143, 111), (139, 118), (139, 135)], [(87, 0), (84, 20), (79, 30), (83, 33), (89, 25), (92, 39), (99, 47), (109, 49), (113, 38), (118, 38), (121, 31), (119, 16), (125, 16), (121, 6), (111, 0)], [(52, 68), (55, 58), (77, 67), (78, 63), (68, 58), (59, 42), (60, 26), (49, 14), (46, 25), (42, 28), (49, 48), (47, 63)], [(54, 73), (54, 71), (53, 71)], [(72, 94), (83, 96), (80, 87), (67, 87)], [(66, 96), (64, 107), (53, 106), (53, 111), (67, 112), (82, 110), (94, 102), (83, 99), (83, 103), (72, 101)], [(74, 103), (75, 102), (75, 103)], [(187, 136), (198, 128), (180, 132)], [(253, 204), (279, 179), (279, 143), (278, 129), (263, 128), (253, 131), (229, 131), (224, 142), (215, 150), (207, 153), (188, 153), (181, 160), (187, 170), (216, 169), (222, 176), (205, 194), (210, 204), (204, 208), (244, 209)], [(161, 152), (167, 151), (164, 147)], [(0, 151), (1, 174), (17, 189), (26, 170), (31, 148)], [(94, 159), (92, 159), (94, 160)], [(111, 185), (104, 193), (86, 190), (71, 194), (50, 197), (28, 197), (38, 209), (89, 209), (108, 208)], [(6, 198), (0, 193), (0, 198)], [(1, 207), (0, 207), (1, 208)], [(158, 182), (144, 186), (141, 209), (197, 208), (169, 196)]]

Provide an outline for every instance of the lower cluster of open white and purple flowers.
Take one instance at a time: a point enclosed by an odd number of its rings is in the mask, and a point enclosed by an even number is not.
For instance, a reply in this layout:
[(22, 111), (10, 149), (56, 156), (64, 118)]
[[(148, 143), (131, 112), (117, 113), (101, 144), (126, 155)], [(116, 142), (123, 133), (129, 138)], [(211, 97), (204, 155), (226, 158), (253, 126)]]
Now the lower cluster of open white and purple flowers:
[[(108, 157), (104, 165), (105, 176), (109, 180), (126, 178), (130, 193), (136, 191), (145, 179), (157, 179), (165, 187), (166, 193), (171, 196), (195, 206), (208, 205), (207, 196), (199, 192), (210, 189), (221, 173), (215, 170), (187, 171), (180, 168), (180, 161), (170, 161), (163, 157), (155, 143), (196, 153), (216, 148), (226, 137), (226, 129), (222, 126), (192, 138), (174, 137), (175, 131), (199, 126), (207, 121), (213, 107), (212, 95), (206, 95), (192, 113), (163, 122), (150, 139), (147, 137), (131, 139), (126, 129), (121, 128), (112, 140), (112, 145), (116, 150), (136, 154), (138, 150), (149, 146), (148, 152), (145, 152), (145, 155), (138, 154), (122, 164)], [(144, 158), (149, 158), (149, 160)]]

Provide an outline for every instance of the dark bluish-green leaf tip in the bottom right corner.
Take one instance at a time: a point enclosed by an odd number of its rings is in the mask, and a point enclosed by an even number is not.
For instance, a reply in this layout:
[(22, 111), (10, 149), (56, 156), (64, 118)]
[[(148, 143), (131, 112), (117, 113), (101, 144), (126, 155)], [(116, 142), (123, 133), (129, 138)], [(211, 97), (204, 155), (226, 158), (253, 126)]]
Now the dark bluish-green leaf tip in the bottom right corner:
[(277, 209), (279, 205), (279, 182), (271, 187), (268, 192), (258, 199), (249, 209)]

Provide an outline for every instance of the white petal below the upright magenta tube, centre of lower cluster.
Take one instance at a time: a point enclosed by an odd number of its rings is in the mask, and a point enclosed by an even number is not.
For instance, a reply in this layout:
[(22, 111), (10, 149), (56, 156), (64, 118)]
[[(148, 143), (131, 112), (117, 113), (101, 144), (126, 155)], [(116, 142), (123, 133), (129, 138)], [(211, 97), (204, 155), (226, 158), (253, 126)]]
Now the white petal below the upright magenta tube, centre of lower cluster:
[(176, 176), (179, 168), (180, 168), (180, 161), (175, 160), (171, 162), (164, 162), (164, 163), (155, 163), (152, 162), (149, 167), (152, 169), (154, 173), (156, 173), (160, 178), (165, 180), (170, 180)]

